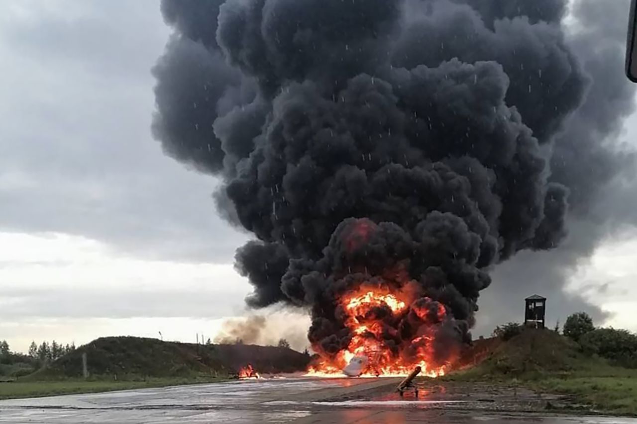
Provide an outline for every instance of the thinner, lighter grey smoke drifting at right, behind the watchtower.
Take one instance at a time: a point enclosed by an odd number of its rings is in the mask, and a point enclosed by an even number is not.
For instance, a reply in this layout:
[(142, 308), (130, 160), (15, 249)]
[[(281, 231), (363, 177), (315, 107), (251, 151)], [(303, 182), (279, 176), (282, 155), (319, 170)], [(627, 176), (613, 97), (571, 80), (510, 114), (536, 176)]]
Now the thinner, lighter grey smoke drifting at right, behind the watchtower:
[(519, 316), (520, 299), (531, 292), (548, 297), (551, 322), (564, 323), (569, 313), (582, 310), (602, 320), (599, 307), (564, 293), (564, 282), (601, 241), (637, 224), (634, 145), (627, 146), (621, 133), (622, 122), (635, 110), (634, 87), (623, 74), (629, 1), (577, 0), (571, 9), (575, 28), (568, 41), (590, 85), (555, 140), (551, 159), (551, 180), (570, 190), (569, 236), (548, 254), (524, 252), (492, 272), (494, 284), (485, 292), (478, 320), (483, 332)]

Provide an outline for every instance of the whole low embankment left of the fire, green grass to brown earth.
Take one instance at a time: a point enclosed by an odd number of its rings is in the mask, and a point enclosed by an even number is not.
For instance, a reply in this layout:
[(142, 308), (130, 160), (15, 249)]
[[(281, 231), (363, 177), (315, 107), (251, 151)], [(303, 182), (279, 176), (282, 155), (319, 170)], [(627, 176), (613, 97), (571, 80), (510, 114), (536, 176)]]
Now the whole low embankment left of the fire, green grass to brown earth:
[(11, 353), (0, 341), (0, 399), (215, 383), (248, 363), (262, 373), (294, 372), (310, 360), (284, 339), (279, 346), (252, 346), (103, 337), (79, 348), (33, 343), (29, 353)]

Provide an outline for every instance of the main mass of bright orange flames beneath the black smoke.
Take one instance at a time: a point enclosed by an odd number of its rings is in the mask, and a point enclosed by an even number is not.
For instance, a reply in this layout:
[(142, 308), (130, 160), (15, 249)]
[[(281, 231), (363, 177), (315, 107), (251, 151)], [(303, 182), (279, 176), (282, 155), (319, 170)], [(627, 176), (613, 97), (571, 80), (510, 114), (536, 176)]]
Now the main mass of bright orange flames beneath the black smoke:
[[(338, 306), (352, 335), (350, 343), (335, 355), (313, 346), (320, 358), (311, 364), (308, 375), (343, 376), (343, 368), (352, 358), (364, 357), (368, 365), (362, 371), (362, 377), (406, 376), (417, 366), (422, 368), (424, 376), (443, 376), (447, 365), (434, 365), (432, 342), (436, 337), (436, 324), (445, 319), (447, 311), (442, 304), (427, 297), (414, 297), (405, 288), (365, 285), (341, 296)], [(419, 333), (412, 339), (403, 340), (399, 346), (391, 345), (392, 340), (401, 340), (401, 337), (392, 334), (397, 332), (396, 326), (387, 325), (387, 322), (401, 322), (408, 314), (414, 314), (414, 319), (420, 320)]]

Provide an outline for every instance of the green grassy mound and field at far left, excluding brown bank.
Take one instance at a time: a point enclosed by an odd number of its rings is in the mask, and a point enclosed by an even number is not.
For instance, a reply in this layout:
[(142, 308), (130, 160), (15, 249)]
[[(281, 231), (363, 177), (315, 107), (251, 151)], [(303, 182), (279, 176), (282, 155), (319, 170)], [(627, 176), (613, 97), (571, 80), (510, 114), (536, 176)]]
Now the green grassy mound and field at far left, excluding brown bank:
[[(153, 339), (108, 337), (76, 349), (57, 342), (31, 343), (29, 355), (0, 341), (0, 399), (224, 381), (228, 372), (210, 354)], [(80, 378), (87, 353), (89, 379)], [(36, 371), (37, 370), (37, 371)], [(224, 372), (225, 371), (225, 372)]]

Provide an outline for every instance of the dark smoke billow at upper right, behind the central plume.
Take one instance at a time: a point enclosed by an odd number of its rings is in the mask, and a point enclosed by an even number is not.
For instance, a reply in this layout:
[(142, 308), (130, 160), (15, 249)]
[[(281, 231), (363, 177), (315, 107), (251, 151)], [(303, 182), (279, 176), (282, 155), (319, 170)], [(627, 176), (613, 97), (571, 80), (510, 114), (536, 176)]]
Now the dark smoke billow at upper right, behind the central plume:
[[(394, 64), (438, 66), (453, 57), (468, 63), (494, 60), (510, 79), (507, 104), (519, 110), (540, 143), (550, 141), (566, 115), (580, 104), (587, 82), (564, 45), (559, 22), (541, 20), (561, 13), (538, 13), (547, 8), (538, 8), (536, 2), (508, 1), (506, 6), (503, 1), (455, 3), (471, 6), (411, 1), (410, 18), (396, 46)], [(424, 11), (423, 4), (429, 5)], [(499, 19), (501, 15), (505, 18)]]

